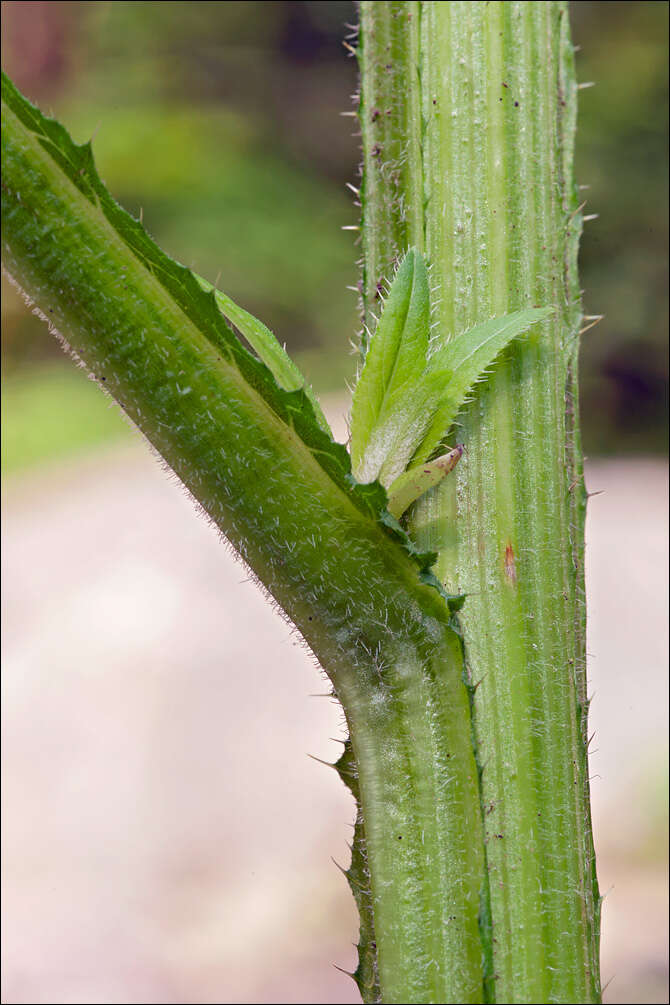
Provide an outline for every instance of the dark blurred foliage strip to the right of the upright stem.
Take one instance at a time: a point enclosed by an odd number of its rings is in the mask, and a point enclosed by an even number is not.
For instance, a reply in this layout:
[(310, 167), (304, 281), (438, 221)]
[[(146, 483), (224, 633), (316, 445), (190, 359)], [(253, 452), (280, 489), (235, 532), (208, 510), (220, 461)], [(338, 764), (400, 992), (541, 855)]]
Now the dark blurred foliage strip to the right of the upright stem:
[(577, 177), (588, 314), (582, 409), (587, 452), (667, 448), (668, 6), (573, 3), (581, 80)]

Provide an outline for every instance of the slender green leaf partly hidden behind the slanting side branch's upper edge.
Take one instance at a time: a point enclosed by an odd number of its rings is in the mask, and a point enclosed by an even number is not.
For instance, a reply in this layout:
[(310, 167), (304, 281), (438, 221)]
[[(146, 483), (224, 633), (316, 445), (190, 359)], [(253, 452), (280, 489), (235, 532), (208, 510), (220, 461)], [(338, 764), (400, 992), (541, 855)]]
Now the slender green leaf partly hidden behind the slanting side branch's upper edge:
[(311, 407), (314, 410), (316, 421), (321, 429), (330, 435), (330, 427), (327, 423), (327, 419), (321, 411), (321, 407), (318, 404), (314, 392), (311, 390), (286, 350), (282, 345), (280, 345), (274, 333), (270, 332), (269, 328), (263, 325), (262, 321), (258, 321), (258, 319), (254, 318), (254, 316), (249, 314), (248, 311), (238, 307), (234, 300), (231, 300), (229, 296), (222, 293), (221, 290), (213, 286), (211, 282), (207, 281), (207, 279), (203, 279), (201, 275), (196, 275), (195, 272), (193, 274), (203, 289), (205, 289), (208, 293), (214, 293), (216, 306), (223, 317), (226, 318), (231, 325), (234, 325), (237, 331), (246, 339), (251, 348), (255, 353), (257, 353), (258, 357), (270, 371), (279, 387), (282, 387), (284, 391), (297, 391), (300, 388), (304, 389), (304, 393), (307, 395), (311, 403)]

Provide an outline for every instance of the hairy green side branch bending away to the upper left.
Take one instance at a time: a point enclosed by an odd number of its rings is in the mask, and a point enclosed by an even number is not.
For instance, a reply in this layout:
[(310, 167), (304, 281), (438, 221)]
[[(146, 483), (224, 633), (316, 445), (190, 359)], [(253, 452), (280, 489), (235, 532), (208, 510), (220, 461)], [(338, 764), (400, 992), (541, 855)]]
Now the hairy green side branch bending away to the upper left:
[[(3, 79), (6, 268), (299, 628), (351, 731), (368, 1001), (478, 1002), (483, 842), (447, 604), (354, 484), (302, 391), (114, 204), (90, 152)], [(383, 498), (383, 495), (382, 495)], [(104, 558), (103, 543), (100, 559)], [(355, 760), (350, 757), (351, 750)]]

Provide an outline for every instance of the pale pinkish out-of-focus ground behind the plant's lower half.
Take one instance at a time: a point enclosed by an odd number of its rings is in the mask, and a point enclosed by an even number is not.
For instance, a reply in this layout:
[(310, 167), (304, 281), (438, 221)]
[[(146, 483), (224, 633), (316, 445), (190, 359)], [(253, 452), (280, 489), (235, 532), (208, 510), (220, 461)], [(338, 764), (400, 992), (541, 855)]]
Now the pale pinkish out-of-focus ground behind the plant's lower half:
[[(660, 1002), (667, 466), (588, 474), (604, 980)], [(358, 1001), (341, 714), (185, 492), (142, 444), (23, 476), (3, 566), (2, 1000)]]

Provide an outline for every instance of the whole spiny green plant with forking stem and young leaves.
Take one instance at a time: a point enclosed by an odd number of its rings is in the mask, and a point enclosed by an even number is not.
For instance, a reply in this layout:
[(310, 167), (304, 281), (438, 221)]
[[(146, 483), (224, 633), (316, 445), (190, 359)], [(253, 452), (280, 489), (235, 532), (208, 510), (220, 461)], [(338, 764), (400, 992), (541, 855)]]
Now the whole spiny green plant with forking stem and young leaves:
[(355, 49), (351, 453), (3, 77), (5, 267), (332, 682), (364, 1000), (597, 1002), (567, 6), (365, 2)]

